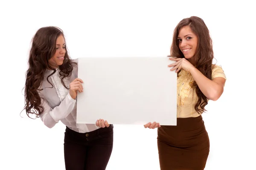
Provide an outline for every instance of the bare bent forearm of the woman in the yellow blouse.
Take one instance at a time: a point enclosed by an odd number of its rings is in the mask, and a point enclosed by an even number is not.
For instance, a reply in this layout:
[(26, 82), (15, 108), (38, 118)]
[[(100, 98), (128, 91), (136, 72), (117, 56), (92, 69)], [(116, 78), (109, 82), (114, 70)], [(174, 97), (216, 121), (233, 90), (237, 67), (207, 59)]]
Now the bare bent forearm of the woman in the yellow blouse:
[(223, 86), (219, 85), (217, 82), (214, 82), (204, 76), (197, 68), (192, 68), (189, 70), (198, 87), (202, 93), (210, 100), (217, 100), (222, 92)]

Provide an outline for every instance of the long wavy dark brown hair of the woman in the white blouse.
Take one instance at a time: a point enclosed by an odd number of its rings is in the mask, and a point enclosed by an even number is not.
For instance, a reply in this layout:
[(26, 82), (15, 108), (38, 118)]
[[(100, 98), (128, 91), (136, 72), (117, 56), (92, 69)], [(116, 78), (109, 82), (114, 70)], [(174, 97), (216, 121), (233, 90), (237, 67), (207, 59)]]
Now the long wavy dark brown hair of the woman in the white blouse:
[[(44, 112), (44, 107), (41, 106), (41, 96), (39, 95), (41, 83), (44, 80), (44, 74), (47, 69), (53, 70), (52, 74), (55, 74), (56, 69), (52, 68), (49, 64), (49, 59), (53, 57), (56, 51), (57, 38), (62, 35), (63, 31), (54, 26), (43, 27), (38, 29), (32, 38), (32, 47), (29, 52), (28, 70), (26, 71), (26, 82), (25, 82), (25, 106), (27, 116), (34, 114), (36, 117), (40, 117), (41, 113)], [(61, 82), (65, 88), (66, 85), (63, 82), (65, 77), (70, 77), (73, 71), (73, 65), (76, 62), (72, 62), (70, 56), (67, 53), (67, 45), (65, 45), (66, 54), (64, 56), (64, 62), (58, 67), (60, 70)], [(47, 77), (49, 82), (50, 74)], [(50, 83), (50, 82), (49, 82)], [(52, 83), (50, 83), (52, 85)], [(53, 85), (52, 85), (53, 88)], [(29, 118), (31, 118), (29, 116)]]

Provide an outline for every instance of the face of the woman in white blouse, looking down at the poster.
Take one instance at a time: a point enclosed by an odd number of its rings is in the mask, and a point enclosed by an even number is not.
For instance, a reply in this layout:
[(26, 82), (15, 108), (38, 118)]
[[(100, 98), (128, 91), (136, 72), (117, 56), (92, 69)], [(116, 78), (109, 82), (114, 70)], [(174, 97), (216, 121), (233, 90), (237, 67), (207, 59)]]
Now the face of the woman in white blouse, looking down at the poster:
[(58, 68), (58, 66), (63, 64), (64, 56), (66, 54), (65, 49), (65, 39), (62, 35), (60, 35), (56, 40), (56, 51), (52, 58), (49, 59), (49, 64), (53, 68)]

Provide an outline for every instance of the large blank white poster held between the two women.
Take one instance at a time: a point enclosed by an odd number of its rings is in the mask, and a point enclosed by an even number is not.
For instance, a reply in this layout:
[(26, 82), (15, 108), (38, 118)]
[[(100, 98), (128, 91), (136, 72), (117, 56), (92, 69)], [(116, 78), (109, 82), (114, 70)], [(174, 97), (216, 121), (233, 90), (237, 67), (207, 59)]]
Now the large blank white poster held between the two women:
[(176, 125), (177, 73), (169, 57), (79, 58), (84, 91), (77, 96), (77, 123)]

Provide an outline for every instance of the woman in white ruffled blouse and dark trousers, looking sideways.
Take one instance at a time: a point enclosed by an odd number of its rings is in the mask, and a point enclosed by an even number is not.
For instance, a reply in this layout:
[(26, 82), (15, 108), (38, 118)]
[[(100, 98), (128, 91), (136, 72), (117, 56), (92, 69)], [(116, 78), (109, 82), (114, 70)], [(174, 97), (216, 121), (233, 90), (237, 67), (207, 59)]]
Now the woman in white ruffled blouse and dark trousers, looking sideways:
[(76, 96), (83, 92), (83, 81), (77, 77), (78, 60), (70, 59), (66, 51), (60, 28), (36, 32), (26, 71), (24, 109), (49, 128), (59, 121), (66, 125), (66, 170), (105, 170), (113, 148), (113, 125), (101, 119), (96, 124), (76, 123)]

